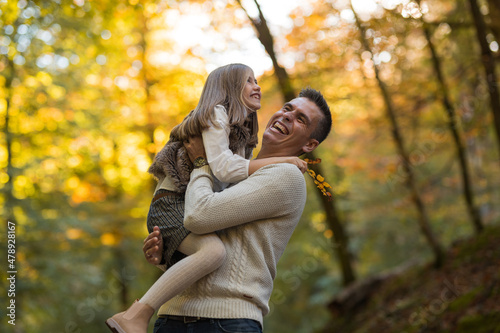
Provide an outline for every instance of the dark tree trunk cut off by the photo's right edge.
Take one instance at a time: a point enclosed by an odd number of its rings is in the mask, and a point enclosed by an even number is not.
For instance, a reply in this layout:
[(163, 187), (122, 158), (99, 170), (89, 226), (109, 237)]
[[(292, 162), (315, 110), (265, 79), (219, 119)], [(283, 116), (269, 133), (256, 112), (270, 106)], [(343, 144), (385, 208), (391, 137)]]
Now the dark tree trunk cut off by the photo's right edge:
[(493, 112), (493, 122), (497, 134), (497, 145), (500, 161), (500, 94), (498, 91), (498, 80), (495, 71), (495, 58), (490, 50), (486, 39), (486, 23), (477, 5), (477, 0), (469, 0), (472, 17), (476, 26), (477, 39), (481, 46), (481, 61), (483, 63), (488, 92), (490, 94), (491, 111)]

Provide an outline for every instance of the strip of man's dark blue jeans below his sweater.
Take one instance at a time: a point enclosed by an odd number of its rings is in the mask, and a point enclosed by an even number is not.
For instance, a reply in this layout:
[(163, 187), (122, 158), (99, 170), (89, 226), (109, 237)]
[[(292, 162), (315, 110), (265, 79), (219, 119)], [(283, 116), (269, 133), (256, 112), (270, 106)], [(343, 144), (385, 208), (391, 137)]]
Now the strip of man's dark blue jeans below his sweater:
[(154, 333), (262, 333), (260, 323), (251, 319), (204, 319), (193, 323), (158, 318)]

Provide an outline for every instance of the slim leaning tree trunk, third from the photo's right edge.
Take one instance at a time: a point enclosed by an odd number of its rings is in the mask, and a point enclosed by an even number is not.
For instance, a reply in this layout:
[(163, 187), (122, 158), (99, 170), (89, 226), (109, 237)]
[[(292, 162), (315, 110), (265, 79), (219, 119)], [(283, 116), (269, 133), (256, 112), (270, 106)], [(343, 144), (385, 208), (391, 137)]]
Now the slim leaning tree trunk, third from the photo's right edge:
[[(366, 29), (364, 26), (361, 24), (359, 17), (357, 16), (356, 12), (351, 6), (351, 10), (354, 13), (355, 19), (356, 19), (356, 25), (359, 29), (360, 32), (360, 39), (363, 47), (366, 49), (366, 51), (372, 53), (370, 49), (370, 45), (368, 44), (368, 41), (366, 40)], [(373, 59), (372, 59), (373, 60)], [(391, 99), (391, 96), (387, 90), (387, 87), (385, 83), (382, 81), (380, 78), (380, 73), (379, 73), (379, 68), (377, 65), (373, 65), (374, 71), (375, 71), (375, 78), (377, 79), (380, 91), (382, 93), (382, 97), (384, 99), (385, 105), (386, 105), (386, 112), (387, 112), (387, 117), (389, 118), (390, 124), (392, 126), (392, 135), (393, 135), (393, 140), (394, 143), (396, 144), (396, 148), (398, 151), (398, 154), (401, 158), (401, 162), (403, 165), (403, 170), (405, 172), (405, 183), (410, 190), (410, 195), (413, 203), (415, 204), (415, 207), (417, 208), (418, 212), (418, 224), (420, 227), (421, 232), (424, 234), (427, 242), (432, 248), (432, 251), (434, 252), (434, 263), (436, 267), (441, 267), (444, 261), (444, 252), (441, 248), (441, 244), (439, 241), (436, 239), (434, 236), (434, 233), (431, 230), (430, 223), (429, 223), (429, 217), (427, 215), (427, 211), (424, 205), (424, 202), (422, 201), (422, 198), (420, 197), (420, 193), (418, 191), (416, 181), (415, 181), (415, 176), (413, 174), (413, 169), (410, 164), (410, 159), (409, 155), (405, 149), (404, 142), (403, 142), (403, 137), (401, 135), (401, 131), (399, 129), (399, 125), (396, 120), (396, 114), (394, 111), (394, 106), (393, 102)]]

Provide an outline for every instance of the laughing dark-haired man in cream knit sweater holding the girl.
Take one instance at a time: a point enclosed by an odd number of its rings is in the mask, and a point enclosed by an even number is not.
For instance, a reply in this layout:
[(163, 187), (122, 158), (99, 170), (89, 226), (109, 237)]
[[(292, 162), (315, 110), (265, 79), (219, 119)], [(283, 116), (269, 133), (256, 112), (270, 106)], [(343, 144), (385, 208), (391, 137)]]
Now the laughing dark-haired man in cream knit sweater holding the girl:
[[(257, 158), (311, 152), (330, 128), (323, 96), (304, 89), (271, 117)], [(190, 159), (201, 160), (202, 166), (191, 173), (184, 224), (197, 234), (217, 231), (226, 259), (160, 308), (155, 332), (262, 332), (276, 264), (304, 209), (304, 177), (294, 165), (273, 164), (214, 192), (210, 167), (203, 165), (201, 140), (190, 140), (186, 148)], [(154, 264), (161, 259), (159, 235), (156, 229), (144, 241), (143, 251)]]

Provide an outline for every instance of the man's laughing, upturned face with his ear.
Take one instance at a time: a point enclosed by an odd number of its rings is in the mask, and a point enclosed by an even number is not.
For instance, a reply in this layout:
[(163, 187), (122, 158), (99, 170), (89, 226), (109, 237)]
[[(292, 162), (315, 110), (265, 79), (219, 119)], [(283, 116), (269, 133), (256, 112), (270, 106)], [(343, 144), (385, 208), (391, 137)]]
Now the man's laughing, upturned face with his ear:
[(271, 117), (262, 144), (272, 148), (279, 156), (311, 152), (318, 146), (318, 141), (310, 138), (311, 133), (322, 117), (318, 106), (309, 99), (295, 98)]

